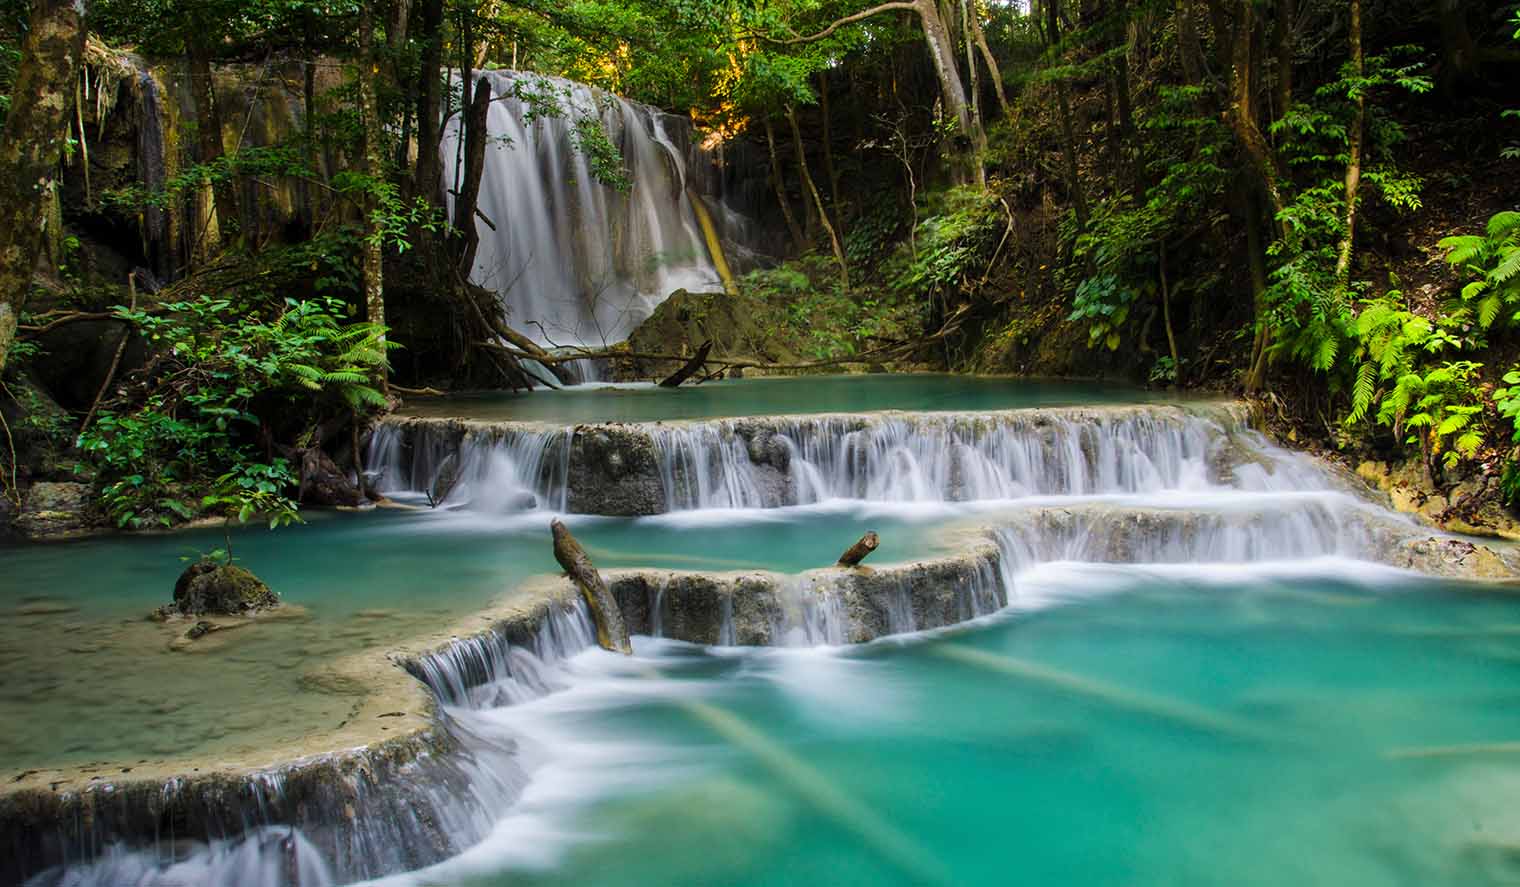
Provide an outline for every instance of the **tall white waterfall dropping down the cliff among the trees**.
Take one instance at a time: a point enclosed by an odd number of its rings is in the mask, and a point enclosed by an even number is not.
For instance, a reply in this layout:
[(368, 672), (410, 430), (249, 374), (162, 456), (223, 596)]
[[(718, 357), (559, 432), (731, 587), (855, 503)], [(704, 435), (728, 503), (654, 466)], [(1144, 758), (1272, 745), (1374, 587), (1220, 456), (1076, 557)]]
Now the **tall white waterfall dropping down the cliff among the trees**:
[[(471, 279), (502, 296), (508, 320), (541, 345), (622, 342), (672, 290), (722, 290), (693, 213), (690, 123), (559, 77), (482, 71), (491, 103)], [(544, 114), (550, 96), (559, 114)], [(625, 194), (600, 184), (578, 149), (596, 118), (623, 155)], [(444, 190), (462, 178), (459, 118), (444, 132)], [(720, 204), (710, 196), (714, 205)], [(736, 214), (714, 213), (730, 235)]]

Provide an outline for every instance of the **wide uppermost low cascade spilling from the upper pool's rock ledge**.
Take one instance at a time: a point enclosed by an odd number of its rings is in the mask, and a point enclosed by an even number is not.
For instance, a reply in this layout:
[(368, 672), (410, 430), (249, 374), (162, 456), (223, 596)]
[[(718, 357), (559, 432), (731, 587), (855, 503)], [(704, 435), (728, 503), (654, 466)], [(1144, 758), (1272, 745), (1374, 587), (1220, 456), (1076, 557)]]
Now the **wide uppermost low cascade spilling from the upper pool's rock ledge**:
[[(1052, 409), (866, 413), (544, 431), (400, 419), (368, 463), (383, 489), (426, 491), (459, 453), (474, 498), (532, 491), (602, 515), (812, 504), (958, 503), (1166, 491), (1330, 489), (1324, 469), (1268, 444), (1239, 410)], [(492, 492), (485, 492), (492, 491)]]

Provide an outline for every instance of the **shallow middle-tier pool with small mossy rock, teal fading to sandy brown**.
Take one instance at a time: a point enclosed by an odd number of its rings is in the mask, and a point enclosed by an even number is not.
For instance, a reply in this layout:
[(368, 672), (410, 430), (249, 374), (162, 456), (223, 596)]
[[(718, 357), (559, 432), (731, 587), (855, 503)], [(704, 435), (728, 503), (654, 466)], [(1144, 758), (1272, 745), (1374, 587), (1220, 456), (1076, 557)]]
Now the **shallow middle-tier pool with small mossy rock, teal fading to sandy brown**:
[[(172, 600), (182, 557), (223, 544), (219, 532), (0, 548), (0, 765), (236, 752), (336, 726), (353, 700), (315, 673), (558, 573), (550, 518), (313, 513), (307, 526), (236, 532), (239, 563), (301, 611), (185, 650), (172, 649), (185, 623), (144, 617)], [(603, 568), (801, 571), (833, 563), (868, 529), (882, 533), (880, 563), (935, 550), (921, 519), (862, 510), (567, 519)]]

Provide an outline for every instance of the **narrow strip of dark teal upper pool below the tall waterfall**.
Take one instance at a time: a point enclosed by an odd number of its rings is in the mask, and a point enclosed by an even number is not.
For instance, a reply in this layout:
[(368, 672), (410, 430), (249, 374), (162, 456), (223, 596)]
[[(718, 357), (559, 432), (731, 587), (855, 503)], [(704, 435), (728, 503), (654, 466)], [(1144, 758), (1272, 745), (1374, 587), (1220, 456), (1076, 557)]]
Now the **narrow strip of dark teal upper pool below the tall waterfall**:
[(722, 380), (679, 389), (593, 383), (556, 392), (412, 398), (401, 412), (480, 421), (578, 424), (871, 410), (1011, 410), (1158, 399), (1163, 395), (1108, 383), (877, 374)]

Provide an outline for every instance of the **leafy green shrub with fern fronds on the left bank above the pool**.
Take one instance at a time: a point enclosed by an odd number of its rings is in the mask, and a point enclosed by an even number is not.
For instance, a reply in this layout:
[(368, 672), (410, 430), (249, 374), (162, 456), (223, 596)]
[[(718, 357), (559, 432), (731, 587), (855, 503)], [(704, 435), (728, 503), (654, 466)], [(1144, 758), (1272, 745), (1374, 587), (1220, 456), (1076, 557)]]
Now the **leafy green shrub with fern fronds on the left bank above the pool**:
[(385, 360), (385, 331), (345, 325), (342, 313), (331, 298), (117, 308), (158, 358), (141, 390), (103, 409), (78, 440), (99, 469), (111, 519), (169, 526), (216, 510), (289, 522), (293, 478), (283, 460), (260, 457), (260, 415), (386, 406), (371, 384)]

